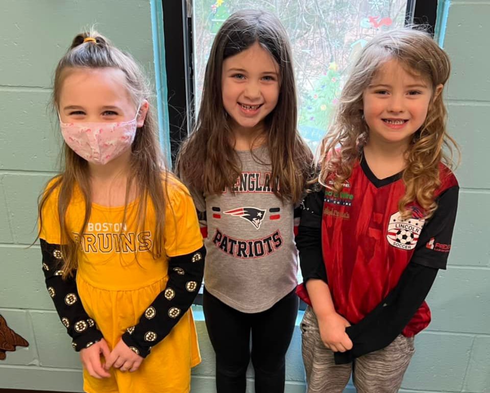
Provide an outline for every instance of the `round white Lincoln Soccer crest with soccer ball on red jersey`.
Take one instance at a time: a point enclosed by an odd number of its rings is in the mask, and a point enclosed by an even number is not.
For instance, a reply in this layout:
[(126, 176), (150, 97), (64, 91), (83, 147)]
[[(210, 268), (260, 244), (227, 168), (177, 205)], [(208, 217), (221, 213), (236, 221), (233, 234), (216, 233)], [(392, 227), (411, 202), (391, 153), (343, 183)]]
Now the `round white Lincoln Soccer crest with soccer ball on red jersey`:
[(419, 240), (420, 232), (425, 224), (423, 211), (415, 206), (410, 207), (412, 216), (402, 219), (400, 212), (389, 217), (386, 238), (388, 243), (398, 249), (413, 250)]

